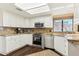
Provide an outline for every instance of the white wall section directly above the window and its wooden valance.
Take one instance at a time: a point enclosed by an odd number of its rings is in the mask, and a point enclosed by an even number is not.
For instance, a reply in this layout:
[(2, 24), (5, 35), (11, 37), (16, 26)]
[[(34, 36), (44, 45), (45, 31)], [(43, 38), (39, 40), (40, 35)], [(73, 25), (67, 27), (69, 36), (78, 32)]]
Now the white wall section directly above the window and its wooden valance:
[(72, 13), (72, 12), (74, 12), (74, 5), (73, 4), (58, 7), (58, 8), (52, 8), (53, 15), (61, 15), (61, 14), (67, 14), (67, 13)]

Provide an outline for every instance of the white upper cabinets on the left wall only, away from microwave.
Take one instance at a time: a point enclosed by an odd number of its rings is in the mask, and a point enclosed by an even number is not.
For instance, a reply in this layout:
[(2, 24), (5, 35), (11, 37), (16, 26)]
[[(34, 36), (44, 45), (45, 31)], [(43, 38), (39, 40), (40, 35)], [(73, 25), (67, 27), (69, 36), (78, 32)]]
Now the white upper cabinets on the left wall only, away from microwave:
[(3, 12), (3, 26), (25, 27), (25, 18), (14, 13)]

